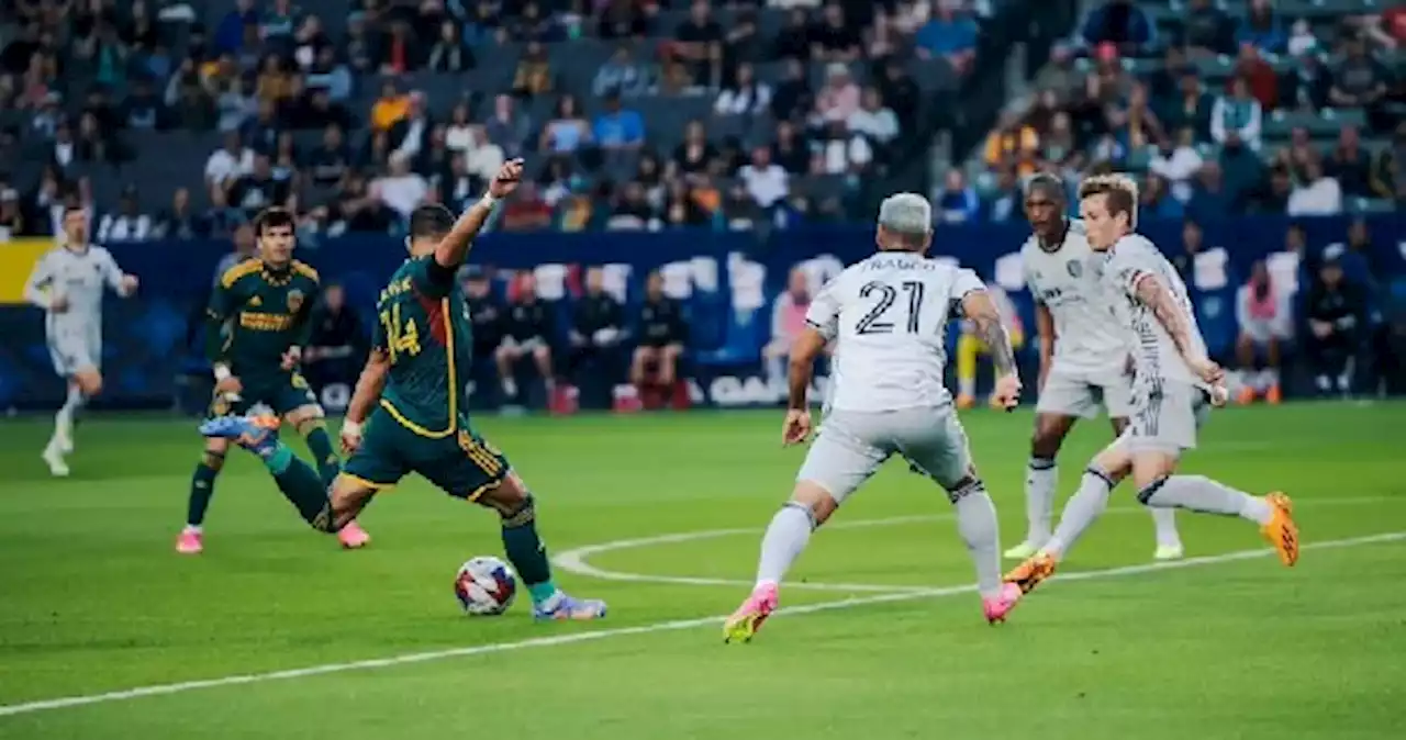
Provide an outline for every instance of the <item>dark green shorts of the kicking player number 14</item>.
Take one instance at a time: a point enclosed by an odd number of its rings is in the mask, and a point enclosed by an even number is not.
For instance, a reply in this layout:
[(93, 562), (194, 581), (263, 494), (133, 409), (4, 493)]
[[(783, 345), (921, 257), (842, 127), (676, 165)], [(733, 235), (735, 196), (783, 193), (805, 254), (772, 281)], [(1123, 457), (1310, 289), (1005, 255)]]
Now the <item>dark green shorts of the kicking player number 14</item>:
[(409, 473), (419, 473), (444, 493), (468, 501), (503, 482), (512, 466), (508, 458), (458, 418), (458, 430), (446, 437), (416, 434), (377, 407), (366, 423), (361, 447), (342, 468), (342, 475), (374, 489), (388, 489)]

